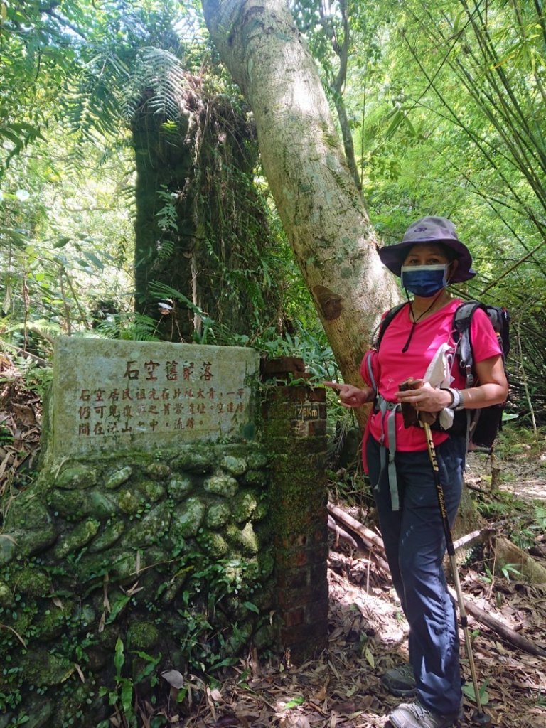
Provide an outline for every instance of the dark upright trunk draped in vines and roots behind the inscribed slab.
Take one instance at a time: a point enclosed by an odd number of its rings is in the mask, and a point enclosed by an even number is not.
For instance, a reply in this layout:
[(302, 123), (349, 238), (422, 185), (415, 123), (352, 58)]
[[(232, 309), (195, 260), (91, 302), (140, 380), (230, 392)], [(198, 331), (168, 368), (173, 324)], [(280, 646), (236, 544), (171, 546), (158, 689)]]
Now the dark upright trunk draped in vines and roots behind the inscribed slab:
[(217, 332), (247, 334), (256, 309), (265, 324), (280, 303), (278, 286), (261, 290), (261, 257), (274, 238), (253, 183), (253, 124), (210, 78), (186, 74), (186, 82), (175, 120), (146, 94), (132, 118), (135, 309), (169, 341), (205, 336), (200, 311)]

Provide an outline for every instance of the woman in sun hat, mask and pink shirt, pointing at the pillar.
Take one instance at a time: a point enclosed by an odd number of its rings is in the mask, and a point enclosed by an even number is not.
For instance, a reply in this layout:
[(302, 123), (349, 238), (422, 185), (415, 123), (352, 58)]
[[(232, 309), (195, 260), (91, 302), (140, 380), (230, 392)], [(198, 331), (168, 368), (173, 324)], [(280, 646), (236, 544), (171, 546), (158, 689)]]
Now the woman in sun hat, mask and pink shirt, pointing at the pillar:
[[(376, 403), (366, 427), (363, 458), (392, 581), (409, 624), (410, 657), (410, 665), (389, 670), (382, 679), (395, 695), (416, 696), (413, 703), (398, 705), (389, 720), (394, 728), (451, 728), (462, 717), (462, 691), (456, 610), (443, 571), (446, 538), (424, 430), (419, 422), (405, 427), (401, 406), (435, 413), (441, 423), (438, 429), (432, 426), (432, 438), (452, 525), (467, 448), (466, 426), (457, 428), (460, 416), (454, 418), (453, 413), (505, 402), (508, 385), (502, 350), (481, 309), (470, 325), (476, 386), (465, 388), (459, 371), (453, 320), (462, 301), (451, 296), (448, 284), (469, 280), (475, 272), (453, 223), (421, 218), (402, 242), (381, 248), (379, 256), (400, 276), (408, 304), (384, 330), (379, 350), (365, 355), (365, 387), (325, 384), (339, 391), (346, 407)], [(453, 362), (451, 376), (448, 371), (444, 387), (433, 386), (425, 373), (443, 344), (444, 361)], [(407, 389), (400, 387), (408, 382)]]

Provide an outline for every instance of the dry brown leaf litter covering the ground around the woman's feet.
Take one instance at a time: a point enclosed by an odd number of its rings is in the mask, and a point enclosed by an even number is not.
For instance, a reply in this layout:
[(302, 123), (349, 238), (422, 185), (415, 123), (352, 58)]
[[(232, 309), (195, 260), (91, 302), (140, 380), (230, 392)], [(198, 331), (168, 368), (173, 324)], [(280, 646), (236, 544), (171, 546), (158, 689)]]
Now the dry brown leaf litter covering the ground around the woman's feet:
[[(510, 478), (501, 489), (528, 498), (529, 505), (546, 507), (546, 457), (523, 449), (510, 464)], [(483, 458), (470, 456), (467, 475), (478, 487), (485, 475)], [(526, 479), (526, 475), (530, 477)], [(542, 477), (541, 477), (542, 476)], [(487, 485), (487, 483), (486, 483)], [(531, 501), (531, 499), (534, 499)], [(359, 513), (352, 509), (352, 515)], [(546, 566), (540, 547), (539, 561)], [(491, 581), (475, 569), (462, 567), (464, 598), (496, 617), (537, 646), (546, 649), (546, 585), (515, 579)], [(328, 649), (303, 665), (272, 660), (260, 665), (256, 655), (241, 664), (239, 676), (207, 691), (191, 717), (175, 727), (242, 728), (390, 728), (388, 714), (401, 702), (385, 691), (381, 674), (408, 659), (408, 625), (392, 585), (373, 561), (353, 558), (331, 543)], [(472, 651), (483, 694), (483, 709), (494, 728), (546, 728), (546, 659), (521, 652), (469, 615)], [(463, 641), (462, 636), (462, 641)], [(472, 678), (462, 645), (465, 689), (472, 695)], [(460, 728), (475, 725), (475, 703), (464, 697)]]

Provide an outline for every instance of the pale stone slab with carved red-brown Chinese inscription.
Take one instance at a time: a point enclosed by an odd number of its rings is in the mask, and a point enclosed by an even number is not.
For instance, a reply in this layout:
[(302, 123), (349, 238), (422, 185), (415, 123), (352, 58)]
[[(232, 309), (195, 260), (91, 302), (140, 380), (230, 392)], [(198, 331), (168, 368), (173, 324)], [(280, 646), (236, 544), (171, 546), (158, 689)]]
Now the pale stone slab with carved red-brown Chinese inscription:
[(251, 419), (253, 349), (61, 337), (55, 342), (55, 456), (237, 438)]

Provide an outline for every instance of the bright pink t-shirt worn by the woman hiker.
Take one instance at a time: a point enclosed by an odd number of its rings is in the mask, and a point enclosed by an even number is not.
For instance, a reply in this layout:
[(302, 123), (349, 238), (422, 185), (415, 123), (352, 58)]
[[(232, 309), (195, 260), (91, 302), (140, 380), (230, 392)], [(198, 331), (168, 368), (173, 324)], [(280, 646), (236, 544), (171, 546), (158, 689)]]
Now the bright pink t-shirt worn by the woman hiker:
[[(454, 313), (462, 303), (460, 298), (454, 298), (439, 311), (433, 313), (423, 321), (419, 321), (414, 328), (414, 334), (407, 351), (402, 349), (408, 341), (411, 333), (411, 317), (409, 306), (404, 306), (387, 326), (379, 352), (372, 356), (375, 359), (374, 376), (378, 385), (379, 393), (389, 402), (396, 402), (396, 392), (400, 389), (400, 382), (408, 377), (421, 379), (427, 371), (440, 346), (447, 342), (454, 347), (453, 340), (453, 317)], [(472, 315), (470, 324), (470, 340), (472, 341), (472, 352), (474, 361), (480, 362), (502, 353), (496, 333), (488, 319), (486, 312), (477, 309)], [(455, 347), (454, 347), (455, 348)], [(363, 379), (371, 385), (368, 373), (367, 357), (365, 355), (360, 371)], [(464, 389), (466, 382), (460, 373), (458, 357), (454, 357), (454, 364), (451, 368), (451, 375), (454, 377), (451, 387)], [(384, 445), (389, 447), (388, 433), (383, 432), (381, 423), (381, 412), (371, 414), (368, 419), (367, 430), (376, 440), (381, 440), (384, 434)], [(385, 427), (387, 430), (387, 427)], [(432, 431), (432, 438), (435, 445), (439, 445), (449, 437), (448, 432)], [(396, 449), (397, 451), (426, 450), (427, 441), (424, 430), (421, 427), (404, 427), (403, 417), (400, 412), (396, 413)]]

